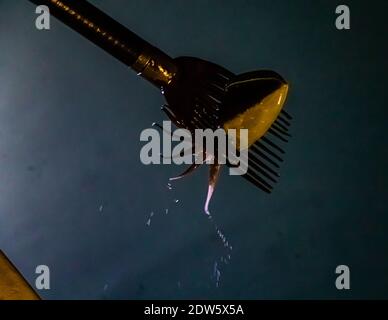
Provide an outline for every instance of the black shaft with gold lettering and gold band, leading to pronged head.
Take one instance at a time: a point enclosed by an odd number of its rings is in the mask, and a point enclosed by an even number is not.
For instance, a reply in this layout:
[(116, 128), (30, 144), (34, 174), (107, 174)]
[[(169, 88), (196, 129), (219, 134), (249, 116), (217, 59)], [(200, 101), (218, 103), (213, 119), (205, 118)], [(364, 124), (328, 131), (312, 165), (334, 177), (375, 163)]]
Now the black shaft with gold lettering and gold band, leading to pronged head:
[(177, 73), (174, 60), (85, 0), (29, 0), (104, 49), (157, 87)]

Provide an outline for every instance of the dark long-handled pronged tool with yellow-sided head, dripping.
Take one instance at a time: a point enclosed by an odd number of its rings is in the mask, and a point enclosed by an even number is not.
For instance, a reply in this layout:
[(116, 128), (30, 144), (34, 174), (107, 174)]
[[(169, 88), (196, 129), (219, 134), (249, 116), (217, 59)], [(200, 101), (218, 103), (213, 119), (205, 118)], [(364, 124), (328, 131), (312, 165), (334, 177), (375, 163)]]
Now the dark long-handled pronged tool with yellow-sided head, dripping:
[[(283, 110), (288, 83), (282, 76), (271, 70), (235, 75), (199, 58), (171, 58), (84, 0), (29, 1), (46, 5), (50, 14), (159, 88), (167, 101), (162, 110), (178, 127), (190, 132), (248, 129), (248, 171), (243, 177), (272, 191), (283, 161), (280, 144), (290, 136), (291, 116)], [(210, 169), (208, 200), (219, 168), (214, 163)]]

